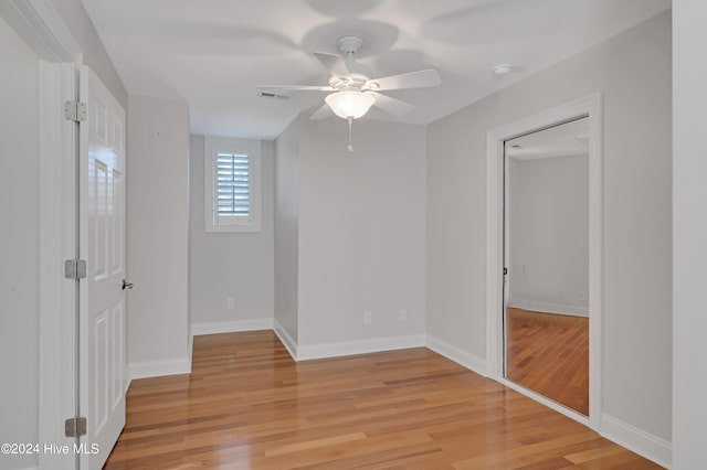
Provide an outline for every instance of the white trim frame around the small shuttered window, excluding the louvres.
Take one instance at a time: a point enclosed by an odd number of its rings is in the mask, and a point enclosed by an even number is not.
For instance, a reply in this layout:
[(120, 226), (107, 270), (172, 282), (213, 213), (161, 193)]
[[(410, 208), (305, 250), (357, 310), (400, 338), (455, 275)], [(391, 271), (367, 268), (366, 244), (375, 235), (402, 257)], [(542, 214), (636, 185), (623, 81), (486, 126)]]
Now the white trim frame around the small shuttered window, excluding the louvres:
[[(214, 167), (217, 154), (235, 153), (249, 157), (250, 167), (250, 216), (232, 223), (218, 223), (217, 213), (217, 181)], [(261, 178), (261, 141), (231, 139), (224, 137), (204, 137), (203, 152), (203, 200), (204, 200), (204, 232), (207, 233), (247, 233), (262, 231), (262, 178)]]

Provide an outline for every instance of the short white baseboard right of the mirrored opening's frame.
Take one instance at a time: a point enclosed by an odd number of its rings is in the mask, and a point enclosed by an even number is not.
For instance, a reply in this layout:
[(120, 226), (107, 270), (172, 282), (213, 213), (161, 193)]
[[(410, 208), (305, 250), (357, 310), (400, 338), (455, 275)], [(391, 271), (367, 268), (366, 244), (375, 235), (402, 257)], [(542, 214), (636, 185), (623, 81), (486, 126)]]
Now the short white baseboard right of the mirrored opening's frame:
[(659, 466), (671, 468), (673, 445), (665, 439), (653, 436), (605, 413), (601, 415), (601, 435)]

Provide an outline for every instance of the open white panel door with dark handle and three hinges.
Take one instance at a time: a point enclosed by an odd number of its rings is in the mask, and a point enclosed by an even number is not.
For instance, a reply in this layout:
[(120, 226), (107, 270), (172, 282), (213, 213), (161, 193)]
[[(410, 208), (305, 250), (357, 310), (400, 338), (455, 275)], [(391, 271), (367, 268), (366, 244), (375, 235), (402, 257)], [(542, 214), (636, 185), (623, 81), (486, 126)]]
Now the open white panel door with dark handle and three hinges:
[(82, 67), (81, 253), (87, 261), (81, 314), (80, 403), (87, 419), (81, 468), (99, 469), (125, 425), (125, 110)]

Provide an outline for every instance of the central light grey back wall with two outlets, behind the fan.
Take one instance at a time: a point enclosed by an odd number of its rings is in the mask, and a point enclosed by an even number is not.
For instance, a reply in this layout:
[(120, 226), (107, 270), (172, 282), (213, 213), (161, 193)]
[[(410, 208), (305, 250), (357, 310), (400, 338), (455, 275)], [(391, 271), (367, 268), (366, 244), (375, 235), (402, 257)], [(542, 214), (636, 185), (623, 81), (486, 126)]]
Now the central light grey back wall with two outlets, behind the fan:
[(300, 122), (300, 346), (424, 333), (424, 128), (356, 121), (352, 153), (347, 129)]

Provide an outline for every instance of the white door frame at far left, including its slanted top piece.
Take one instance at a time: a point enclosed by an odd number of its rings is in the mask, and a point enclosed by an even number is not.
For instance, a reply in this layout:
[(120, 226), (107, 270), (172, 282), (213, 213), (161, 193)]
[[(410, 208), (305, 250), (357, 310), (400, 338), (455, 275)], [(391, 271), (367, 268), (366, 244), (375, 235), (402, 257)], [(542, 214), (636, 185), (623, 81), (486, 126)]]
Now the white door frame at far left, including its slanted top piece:
[[(63, 261), (77, 258), (77, 125), (63, 103), (77, 97), (82, 50), (50, 0), (0, 2), (0, 15), (39, 58), (39, 442), (72, 445), (64, 419), (76, 414), (76, 284)], [(76, 456), (40, 452), (44, 469), (75, 469)]]

